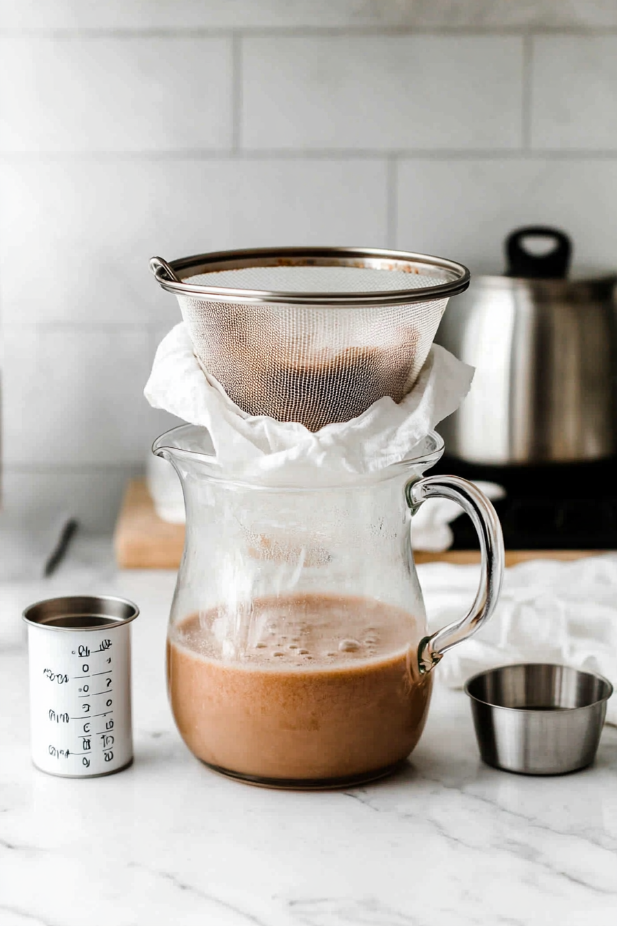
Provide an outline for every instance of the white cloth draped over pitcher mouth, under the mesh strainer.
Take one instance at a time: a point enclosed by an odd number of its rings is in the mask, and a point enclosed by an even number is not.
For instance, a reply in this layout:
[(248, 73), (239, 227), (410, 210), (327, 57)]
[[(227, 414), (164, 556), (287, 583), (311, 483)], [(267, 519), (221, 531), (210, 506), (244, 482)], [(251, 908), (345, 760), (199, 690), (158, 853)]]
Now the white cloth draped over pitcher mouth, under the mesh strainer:
[(328, 482), (333, 473), (375, 472), (407, 457), (459, 407), (473, 375), (473, 367), (434, 344), (400, 404), (386, 396), (351, 421), (311, 432), (297, 422), (243, 412), (204, 374), (180, 323), (159, 344), (144, 394), (153, 407), (207, 428), (229, 476), (315, 483)]

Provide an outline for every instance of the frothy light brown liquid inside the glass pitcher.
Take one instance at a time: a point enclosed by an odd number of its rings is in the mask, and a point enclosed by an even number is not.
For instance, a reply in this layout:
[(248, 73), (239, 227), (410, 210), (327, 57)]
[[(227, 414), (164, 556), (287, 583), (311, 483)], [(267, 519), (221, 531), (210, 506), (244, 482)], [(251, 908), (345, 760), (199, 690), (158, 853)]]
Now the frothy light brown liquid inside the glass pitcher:
[(195, 756), (302, 784), (371, 777), (413, 750), (432, 675), (410, 672), (422, 628), (408, 613), (352, 595), (257, 599), (226, 653), (231, 623), (208, 612), (170, 632), (171, 706)]

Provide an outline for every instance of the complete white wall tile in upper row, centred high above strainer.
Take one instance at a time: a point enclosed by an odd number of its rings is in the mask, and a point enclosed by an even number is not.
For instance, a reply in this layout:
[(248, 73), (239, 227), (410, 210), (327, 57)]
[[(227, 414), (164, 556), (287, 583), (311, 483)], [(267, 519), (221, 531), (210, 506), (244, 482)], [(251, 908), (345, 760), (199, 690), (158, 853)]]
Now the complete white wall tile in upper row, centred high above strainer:
[(267, 36), (242, 42), (247, 148), (515, 148), (517, 37)]

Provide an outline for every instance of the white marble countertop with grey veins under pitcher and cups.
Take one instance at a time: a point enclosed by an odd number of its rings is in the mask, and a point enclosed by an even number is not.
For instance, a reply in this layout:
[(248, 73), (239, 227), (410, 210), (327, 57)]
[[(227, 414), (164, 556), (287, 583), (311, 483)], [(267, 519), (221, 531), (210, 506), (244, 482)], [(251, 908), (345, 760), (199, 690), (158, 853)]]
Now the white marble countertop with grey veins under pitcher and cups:
[[(78, 538), (50, 580), (0, 586), (2, 926), (615, 922), (617, 729), (589, 770), (510, 775), (480, 762), (466, 698), (437, 685), (420, 745), (389, 780), (323, 793), (228, 781), (191, 757), (167, 707), (173, 585), (118, 572), (108, 540)], [(142, 609), (135, 763), (82, 781), (31, 766), (19, 620), (77, 592)]]

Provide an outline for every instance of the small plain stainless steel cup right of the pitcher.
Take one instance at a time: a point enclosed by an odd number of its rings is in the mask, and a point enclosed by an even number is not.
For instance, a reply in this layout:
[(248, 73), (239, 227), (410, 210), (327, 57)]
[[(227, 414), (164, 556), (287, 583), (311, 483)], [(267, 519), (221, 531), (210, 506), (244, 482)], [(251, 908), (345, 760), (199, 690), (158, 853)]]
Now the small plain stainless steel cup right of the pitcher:
[(612, 685), (593, 672), (521, 663), (479, 672), (464, 691), (487, 765), (562, 775), (596, 757)]

